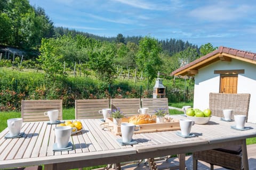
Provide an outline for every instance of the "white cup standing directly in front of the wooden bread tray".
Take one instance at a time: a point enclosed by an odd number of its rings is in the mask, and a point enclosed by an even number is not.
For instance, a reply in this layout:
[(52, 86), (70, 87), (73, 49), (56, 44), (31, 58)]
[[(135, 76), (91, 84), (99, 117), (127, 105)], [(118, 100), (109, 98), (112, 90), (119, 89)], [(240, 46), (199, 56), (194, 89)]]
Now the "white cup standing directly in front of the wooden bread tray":
[(134, 131), (139, 131), (140, 126), (131, 123), (121, 123), (121, 133), (123, 142), (131, 142)]

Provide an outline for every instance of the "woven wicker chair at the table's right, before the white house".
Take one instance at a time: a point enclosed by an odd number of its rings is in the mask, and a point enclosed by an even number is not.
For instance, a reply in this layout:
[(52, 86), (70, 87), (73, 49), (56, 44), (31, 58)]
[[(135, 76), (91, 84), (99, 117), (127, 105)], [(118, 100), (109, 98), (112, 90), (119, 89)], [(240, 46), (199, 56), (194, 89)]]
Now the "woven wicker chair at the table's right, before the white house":
[[(223, 109), (232, 109), (233, 119), (234, 115), (248, 116), (249, 103), (250, 94), (210, 93), (209, 96), (209, 109), (213, 116), (218, 117), (223, 117)], [(197, 169), (197, 160), (209, 163), (211, 169), (213, 169), (213, 165), (229, 169), (243, 169), (242, 146), (231, 145), (225, 148), (194, 152), (193, 169)]]

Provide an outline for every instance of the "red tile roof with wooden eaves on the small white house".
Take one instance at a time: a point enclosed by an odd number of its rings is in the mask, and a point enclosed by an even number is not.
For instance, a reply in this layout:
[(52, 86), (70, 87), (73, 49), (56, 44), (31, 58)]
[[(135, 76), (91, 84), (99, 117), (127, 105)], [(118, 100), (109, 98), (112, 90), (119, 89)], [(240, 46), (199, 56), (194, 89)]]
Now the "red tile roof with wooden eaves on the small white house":
[[(195, 60), (195, 61), (193, 61), (193, 62), (190, 62), (189, 64), (187, 64), (186, 66), (184, 66), (184, 67), (181, 67), (181, 68), (179, 68), (179, 69), (177, 69), (177, 70), (174, 70), (173, 72), (172, 72), (172, 75), (180, 75), (179, 73), (181, 72), (181, 71), (183, 71), (183, 70), (186, 70), (186, 69), (189, 69), (190, 67), (193, 67), (193, 66), (195, 66), (196, 64), (198, 65), (200, 62), (203, 62), (203, 61), (205, 61), (205, 60), (207, 60), (207, 59), (210, 59), (212, 56), (214, 56), (214, 55), (216, 55), (216, 54), (222, 54), (222, 55), (227, 55), (227, 54), (229, 54), (229, 57), (230, 57), (230, 55), (231, 56), (234, 56), (234, 57), (236, 57), (236, 59), (239, 59), (239, 58), (241, 58), (241, 59), (244, 59), (244, 61), (254, 61), (255, 62), (255, 64), (256, 64), (256, 53), (251, 53), (251, 52), (247, 52), (247, 51), (242, 51), (242, 50), (236, 50), (236, 49), (233, 49), (233, 48), (228, 48), (228, 47), (223, 47), (223, 46), (220, 46), (217, 50), (215, 50), (215, 51), (213, 51), (213, 52), (211, 52), (211, 53), (209, 53), (209, 54), (206, 54), (206, 55), (204, 55), (204, 56), (202, 56), (201, 58), (199, 58), (199, 59), (197, 59), (197, 60)], [(238, 57), (238, 58), (237, 58)], [(218, 61), (218, 60), (214, 60), (214, 61)], [(214, 62), (214, 61), (212, 61), (212, 62)], [(206, 64), (207, 63), (212, 63), (212, 62), (206, 62)], [(203, 63), (202, 63), (203, 64)], [(200, 64), (199, 64), (200, 65)], [(198, 65), (198, 67), (197, 67), (197, 69), (198, 68), (202, 68), (202, 67), (204, 67), (204, 66), (206, 66), (205, 65), (205, 63), (204, 63), (204, 65), (203, 66), (199, 66)], [(187, 73), (188, 74), (188, 73)], [(182, 75), (187, 75), (187, 74), (185, 74), (184, 72), (182, 73)]]

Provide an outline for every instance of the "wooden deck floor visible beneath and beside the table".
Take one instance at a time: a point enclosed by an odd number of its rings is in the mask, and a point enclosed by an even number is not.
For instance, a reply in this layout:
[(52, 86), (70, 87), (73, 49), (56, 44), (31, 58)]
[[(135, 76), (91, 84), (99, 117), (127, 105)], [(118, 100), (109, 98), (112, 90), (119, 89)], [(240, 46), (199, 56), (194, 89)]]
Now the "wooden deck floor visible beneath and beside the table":
[[(256, 144), (247, 145), (247, 152), (248, 152), (248, 159), (249, 159), (249, 168), (250, 170), (256, 170)], [(173, 168), (170, 167), (174, 166)], [(177, 169), (175, 166), (179, 165), (179, 161), (177, 158), (170, 158), (167, 161), (165, 159), (161, 159), (157, 161), (157, 169)], [(191, 156), (186, 157), (186, 166), (188, 170), (193, 169), (193, 160)], [(142, 162), (139, 166), (136, 163), (124, 165), (122, 166), (122, 170), (150, 170), (148, 164), (144, 164)], [(198, 162), (198, 169), (199, 170), (206, 170), (210, 169), (210, 164), (203, 163), (202, 161)], [(222, 168), (219, 166), (214, 166), (214, 169), (217, 170), (225, 170), (226, 168)]]

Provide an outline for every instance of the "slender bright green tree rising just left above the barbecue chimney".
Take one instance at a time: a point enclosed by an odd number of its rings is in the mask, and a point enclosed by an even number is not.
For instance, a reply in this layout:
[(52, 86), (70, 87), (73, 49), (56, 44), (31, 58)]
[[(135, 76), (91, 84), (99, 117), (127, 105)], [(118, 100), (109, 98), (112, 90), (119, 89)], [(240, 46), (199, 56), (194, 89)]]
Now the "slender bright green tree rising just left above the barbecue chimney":
[(159, 58), (161, 50), (161, 44), (155, 38), (146, 36), (140, 40), (136, 63), (146, 75), (148, 84), (157, 76), (158, 69), (162, 64)]

